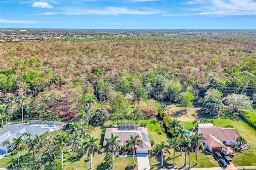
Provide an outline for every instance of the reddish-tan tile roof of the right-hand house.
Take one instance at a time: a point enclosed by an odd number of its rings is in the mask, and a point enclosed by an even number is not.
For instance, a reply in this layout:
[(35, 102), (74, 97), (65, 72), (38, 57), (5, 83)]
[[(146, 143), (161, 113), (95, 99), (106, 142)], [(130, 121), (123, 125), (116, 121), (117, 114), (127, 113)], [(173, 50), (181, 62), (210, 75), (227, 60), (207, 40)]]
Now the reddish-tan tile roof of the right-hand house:
[[(236, 141), (239, 133), (234, 128), (228, 127), (199, 127), (202, 135), (206, 138), (206, 144), (209, 147), (225, 147), (222, 141)], [(222, 141), (220, 141), (220, 140)]]

